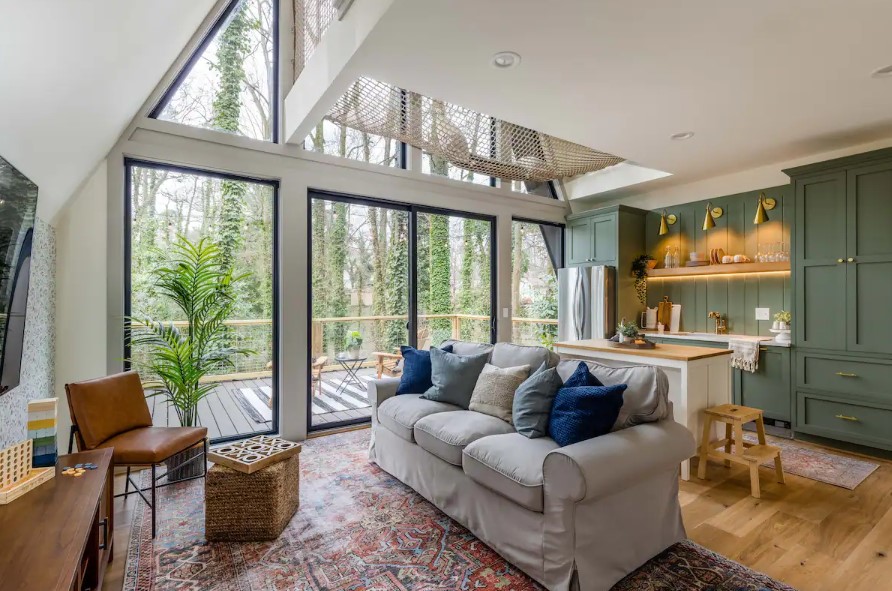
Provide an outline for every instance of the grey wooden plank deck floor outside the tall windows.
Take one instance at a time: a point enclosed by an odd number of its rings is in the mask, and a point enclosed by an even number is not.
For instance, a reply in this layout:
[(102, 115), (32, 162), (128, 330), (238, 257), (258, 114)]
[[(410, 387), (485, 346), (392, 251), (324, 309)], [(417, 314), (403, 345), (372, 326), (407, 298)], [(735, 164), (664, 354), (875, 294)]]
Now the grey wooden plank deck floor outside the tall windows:
[[(372, 368), (357, 371), (363, 381), (375, 377)], [(313, 396), (313, 426), (352, 420), (367, 420), (371, 416), (365, 389), (356, 386), (341, 388), (346, 372), (322, 374), (321, 392)], [(341, 390), (338, 392), (338, 390)], [(256, 378), (220, 382), (217, 389), (198, 405), (201, 424), (208, 428), (211, 440), (228, 437), (250, 437), (272, 429), (272, 378)], [(149, 410), (156, 426), (178, 426), (176, 411), (161, 397), (149, 397)]]

